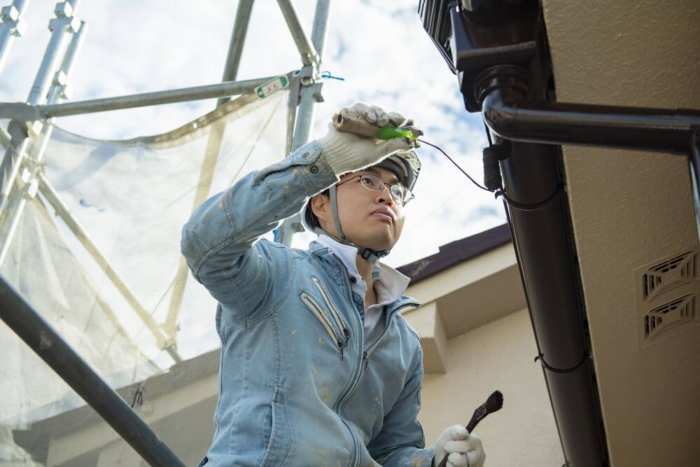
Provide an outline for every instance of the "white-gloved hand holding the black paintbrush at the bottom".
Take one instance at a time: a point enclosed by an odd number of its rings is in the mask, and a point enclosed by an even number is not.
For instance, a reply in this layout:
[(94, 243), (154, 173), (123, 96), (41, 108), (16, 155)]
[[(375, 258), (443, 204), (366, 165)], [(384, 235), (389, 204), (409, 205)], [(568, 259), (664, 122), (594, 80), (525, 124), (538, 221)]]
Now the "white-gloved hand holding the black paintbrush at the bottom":
[(444, 456), (448, 456), (448, 467), (482, 467), (486, 459), (481, 438), (470, 435), (461, 425), (450, 426), (437, 438), (433, 467), (437, 467)]

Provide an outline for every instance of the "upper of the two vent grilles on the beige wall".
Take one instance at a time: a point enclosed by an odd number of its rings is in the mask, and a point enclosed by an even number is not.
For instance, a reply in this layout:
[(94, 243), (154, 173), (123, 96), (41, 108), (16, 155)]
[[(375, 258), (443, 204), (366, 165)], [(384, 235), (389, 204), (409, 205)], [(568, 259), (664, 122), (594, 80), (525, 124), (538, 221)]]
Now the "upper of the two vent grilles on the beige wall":
[(653, 300), (661, 293), (697, 279), (697, 260), (696, 251), (687, 251), (650, 267), (642, 275), (643, 300), (645, 302)]

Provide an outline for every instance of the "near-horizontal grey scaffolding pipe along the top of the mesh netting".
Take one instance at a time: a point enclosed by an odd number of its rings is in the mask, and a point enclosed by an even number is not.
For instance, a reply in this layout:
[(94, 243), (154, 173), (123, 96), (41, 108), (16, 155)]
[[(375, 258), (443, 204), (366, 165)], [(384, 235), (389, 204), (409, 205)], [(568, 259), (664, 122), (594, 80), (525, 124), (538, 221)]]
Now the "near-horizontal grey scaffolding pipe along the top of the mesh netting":
[[(174, 104), (176, 102), (197, 101), (201, 99), (216, 99), (218, 97), (244, 94), (276, 77), (277, 76), (267, 76), (265, 78), (254, 78), (244, 81), (227, 81), (225, 83), (195, 86), (193, 88), (144, 92), (142, 94), (106, 97), (104, 99), (66, 102), (64, 104), (50, 104), (37, 106), (37, 109), (45, 118), (50, 118), (79, 115), (81, 113), (96, 113), (120, 109), (134, 109), (135, 107)], [(3, 113), (3, 105), (0, 104), (0, 117), (2, 116), (8, 115)]]

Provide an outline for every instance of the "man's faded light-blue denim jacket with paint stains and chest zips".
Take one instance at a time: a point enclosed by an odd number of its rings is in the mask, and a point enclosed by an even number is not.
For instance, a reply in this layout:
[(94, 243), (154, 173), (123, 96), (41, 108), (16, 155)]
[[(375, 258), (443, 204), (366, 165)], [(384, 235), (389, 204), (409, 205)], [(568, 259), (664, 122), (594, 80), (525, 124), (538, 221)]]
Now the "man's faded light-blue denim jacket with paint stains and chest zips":
[[(430, 466), (416, 419), (419, 338), (386, 307), (386, 330), (363, 351), (363, 297), (316, 242), (259, 239), (337, 181), (311, 142), (204, 202), (182, 253), (218, 300), (219, 399), (209, 466)], [(256, 241), (257, 240), (257, 241)]]

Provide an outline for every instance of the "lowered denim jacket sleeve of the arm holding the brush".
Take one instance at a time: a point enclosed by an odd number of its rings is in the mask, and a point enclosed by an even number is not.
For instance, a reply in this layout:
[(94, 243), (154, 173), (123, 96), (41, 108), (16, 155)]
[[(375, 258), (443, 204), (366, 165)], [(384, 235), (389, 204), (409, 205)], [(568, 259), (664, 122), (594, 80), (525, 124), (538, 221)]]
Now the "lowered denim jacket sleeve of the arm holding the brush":
[(425, 449), (426, 438), (418, 421), (423, 383), (423, 349), (420, 346), (416, 355), (414, 372), (384, 417), (381, 431), (367, 445), (372, 459), (385, 467), (430, 467), (433, 463), (433, 448)]

